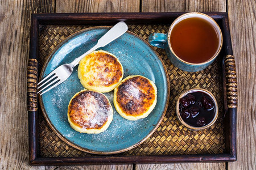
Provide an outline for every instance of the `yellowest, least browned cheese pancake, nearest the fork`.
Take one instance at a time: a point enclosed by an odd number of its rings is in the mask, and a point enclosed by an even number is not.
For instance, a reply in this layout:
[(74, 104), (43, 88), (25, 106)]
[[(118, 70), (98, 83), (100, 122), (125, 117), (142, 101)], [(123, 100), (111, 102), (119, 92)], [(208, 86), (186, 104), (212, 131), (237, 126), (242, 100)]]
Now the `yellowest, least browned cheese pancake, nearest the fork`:
[(78, 77), (82, 86), (99, 92), (112, 91), (123, 78), (123, 66), (114, 54), (94, 51), (79, 62)]

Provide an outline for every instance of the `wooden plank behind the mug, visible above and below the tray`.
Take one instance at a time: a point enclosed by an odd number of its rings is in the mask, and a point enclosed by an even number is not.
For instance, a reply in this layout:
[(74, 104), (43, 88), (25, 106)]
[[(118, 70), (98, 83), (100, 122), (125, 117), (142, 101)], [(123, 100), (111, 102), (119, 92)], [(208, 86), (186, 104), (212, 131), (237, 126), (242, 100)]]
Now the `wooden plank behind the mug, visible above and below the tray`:
[[(142, 12), (225, 12), (226, 1), (142, 0)], [(137, 164), (136, 169), (225, 169), (225, 163)]]

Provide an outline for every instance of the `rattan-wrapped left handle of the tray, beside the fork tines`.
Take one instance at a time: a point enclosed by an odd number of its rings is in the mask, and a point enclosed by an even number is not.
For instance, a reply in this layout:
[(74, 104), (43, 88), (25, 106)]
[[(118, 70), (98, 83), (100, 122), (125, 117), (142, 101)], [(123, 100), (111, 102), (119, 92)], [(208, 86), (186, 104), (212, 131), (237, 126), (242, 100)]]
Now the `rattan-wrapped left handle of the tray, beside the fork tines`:
[(27, 110), (37, 111), (37, 84), (38, 84), (38, 61), (34, 58), (28, 59), (27, 66)]

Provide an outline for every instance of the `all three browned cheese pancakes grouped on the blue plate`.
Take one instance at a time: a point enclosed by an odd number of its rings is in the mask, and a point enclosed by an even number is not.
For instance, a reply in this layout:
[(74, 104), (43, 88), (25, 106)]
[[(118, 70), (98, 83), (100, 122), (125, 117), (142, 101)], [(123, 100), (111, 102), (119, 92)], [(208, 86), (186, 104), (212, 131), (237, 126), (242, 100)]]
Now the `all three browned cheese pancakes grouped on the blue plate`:
[(113, 108), (101, 92), (114, 90), (114, 107), (127, 120), (147, 117), (156, 105), (155, 84), (141, 75), (123, 79), (123, 67), (114, 54), (94, 51), (81, 59), (78, 76), (82, 90), (68, 105), (68, 121), (81, 133), (101, 133), (113, 119)]

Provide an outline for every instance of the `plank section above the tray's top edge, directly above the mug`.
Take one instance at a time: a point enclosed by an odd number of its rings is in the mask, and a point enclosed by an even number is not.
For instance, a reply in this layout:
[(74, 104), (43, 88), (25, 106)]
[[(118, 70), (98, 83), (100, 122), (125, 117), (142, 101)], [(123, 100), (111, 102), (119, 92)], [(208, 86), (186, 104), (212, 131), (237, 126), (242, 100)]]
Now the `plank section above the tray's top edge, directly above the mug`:
[(142, 12), (226, 12), (225, 0), (142, 0)]

